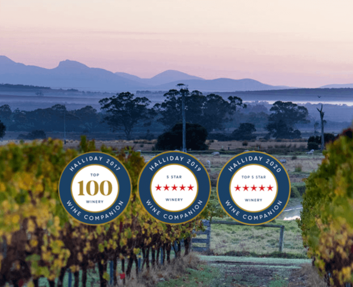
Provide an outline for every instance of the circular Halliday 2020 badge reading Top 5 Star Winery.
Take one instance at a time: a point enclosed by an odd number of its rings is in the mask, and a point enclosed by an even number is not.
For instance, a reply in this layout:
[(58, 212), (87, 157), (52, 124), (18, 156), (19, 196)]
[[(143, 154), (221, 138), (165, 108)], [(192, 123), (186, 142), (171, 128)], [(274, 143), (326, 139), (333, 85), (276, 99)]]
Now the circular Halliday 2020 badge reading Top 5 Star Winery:
[(266, 153), (247, 151), (222, 168), (217, 196), (223, 210), (246, 225), (267, 223), (285, 209), (291, 183), (282, 164)]

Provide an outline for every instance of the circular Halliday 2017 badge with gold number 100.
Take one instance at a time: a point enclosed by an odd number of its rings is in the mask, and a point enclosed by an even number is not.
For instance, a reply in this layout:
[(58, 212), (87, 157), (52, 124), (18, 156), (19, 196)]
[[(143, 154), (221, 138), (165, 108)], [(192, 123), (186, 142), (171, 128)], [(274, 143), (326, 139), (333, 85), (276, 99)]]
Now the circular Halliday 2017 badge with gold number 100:
[(59, 197), (65, 210), (88, 225), (113, 221), (126, 208), (130, 175), (115, 157), (93, 151), (75, 157), (61, 173)]

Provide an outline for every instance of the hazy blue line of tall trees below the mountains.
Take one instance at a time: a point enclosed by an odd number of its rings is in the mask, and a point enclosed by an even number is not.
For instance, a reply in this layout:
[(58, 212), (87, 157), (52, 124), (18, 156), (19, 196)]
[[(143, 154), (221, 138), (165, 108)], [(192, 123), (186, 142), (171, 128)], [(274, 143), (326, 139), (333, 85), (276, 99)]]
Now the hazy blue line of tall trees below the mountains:
[[(248, 139), (256, 131), (255, 126), (263, 125), (267, 137), (300, 138), (301, 134), (295, 128), (297, 123), (308, 123), (308, 111), (305, 107), (292, 102), (276, 101), (268, 115), (249, 113), (245, 122), (239, 118), (240, 108), (246, 109), (246, 104), (240, 97), (229, 96), (227, 100), (216, 94), (203, 95), (186, 88), (185, 114), (189, 124), (199, 124), (207, 133), (225, 131), (232, 122), (239, 126), (233, 131), (234, 139)], [(50, 108), (24, 111), (11, 111), (7, 104), (0, 107), (0, 137), (8, 131), (43, 130), (62, 131), (65, 121), (67, 132), (124, 131), (130, 139), (133, 130), (159, 123), (164, 132), (181, 121), (181, 92), (171, 89), (164, 94), (164, 101), (149, 108), (151, 101), (146, 97), (136, 97), (130, 92), (121, 92), (99, 101), (101, 111), (91, 106), (68, 111), (64, 105), (55, 104)], [(229, 136), (228, 136), (229, 137)]]

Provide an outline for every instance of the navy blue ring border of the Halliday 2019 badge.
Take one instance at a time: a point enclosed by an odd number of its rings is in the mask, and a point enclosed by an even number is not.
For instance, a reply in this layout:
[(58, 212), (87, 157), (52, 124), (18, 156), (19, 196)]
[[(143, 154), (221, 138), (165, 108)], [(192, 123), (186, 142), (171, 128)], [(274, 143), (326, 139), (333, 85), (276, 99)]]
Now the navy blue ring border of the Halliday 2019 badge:
[[(180, 159), (180, 156), (183, 156), (184, 159), (182, 161), (163, 162), (162, 158), (165, 158), (166, 156), (173, 156), (174, 158), (178, 156), (179, 159)], [(194, 161), (196, 164), (198, 164), (198, 167), (200, 167), (201, 170), (197, 171), (195, 169), (195, 166), (190, 166), (190, 164), (187, 164), (186, 162), (188, 159), (190, 159), (190, 163)], [(161, 162), (161, 164), (158, 162), (158, 160), (159, 162)], [(151, 170), (150, 166), (154, 162), (157, 162), (158, 166)], [(197, 197), (190, 205), (190, 207), (182, 211), (166, 211), (164, 209), (161, 209), (160, 207), (158, 207), (157, 203), (152, 198), (151, 190), (150, 190), (151, 180), (153, 178), (153, 175), (158, 171), (158, 169), (173, 163), (178, 163), (180, 165), (183, 165), (189, 168), (190, 171), (195, 175), (197, 179), (197, 184), (198, 184)], [(142, 204), (142, 207), (146, 210), (146, 212), (151, 217), (166, 224), (179, 225), (195, 219), (205, 209), (211, 195), (211, 180), (205, 167), (202, 165), (201, 162), (199, 162), (196, 159), (196, 157), (190, 154), (184, 153), (182, 151), (166, 151), (150, 159), (143, 167), (138, 178), (137, 194)], [(148, 200), (152, 203), (153, 205), (152, 208), (151, 208), (151, 205), (148, 205), (146, 203)], [(199, 201), (202, 201), (202, 204), (198, 204)], [(198, 206), (198, 209), (195, 209), (196, 205)], [(157, 210), (159, 210), (160, 213), (157, 214), (158, 211), (156, 212), (151, 211), (153, 208), (156, 208)], [(189, 211), (192, 212), (192, 215), (189, 214)], [(185, 217), (185, 213), (188, 215), (187, 217)], [(166, 217), (165, 215), (167, 215), (167, 218), (165, 218)], [(183, 218), (180, 218), (181, 217), (180, 215), (182, 215)], [(169, 216), (173, 216), (173, 219), (168, 218)]]

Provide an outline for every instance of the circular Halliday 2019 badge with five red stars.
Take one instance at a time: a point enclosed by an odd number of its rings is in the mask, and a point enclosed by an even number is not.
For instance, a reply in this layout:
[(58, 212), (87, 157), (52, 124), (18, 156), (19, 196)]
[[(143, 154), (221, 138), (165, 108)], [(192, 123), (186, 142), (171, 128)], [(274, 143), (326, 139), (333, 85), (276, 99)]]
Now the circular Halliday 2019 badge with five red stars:
[(146, 163), (137, 189), (143, 208), (154, 219), (177, 225), (193, 220), (206, 207), (211, 181), (195, 157), (167, 151)]

